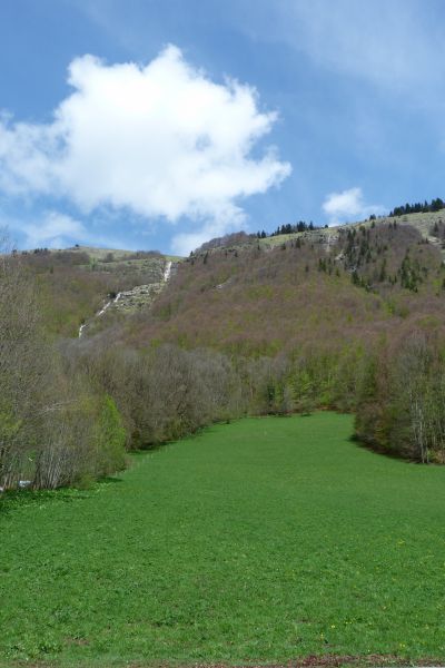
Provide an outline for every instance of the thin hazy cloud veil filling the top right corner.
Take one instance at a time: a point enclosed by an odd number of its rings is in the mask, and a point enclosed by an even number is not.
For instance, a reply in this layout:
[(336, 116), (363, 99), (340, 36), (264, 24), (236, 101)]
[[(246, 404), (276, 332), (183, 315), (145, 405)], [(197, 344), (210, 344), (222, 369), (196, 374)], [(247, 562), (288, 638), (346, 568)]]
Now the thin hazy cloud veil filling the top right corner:
[[(238, 2), (238, 20), (248, 0)], [(441, 2), (422, 0), (281, 0), (258, 3), (245, 31), (285, 42), (327, 70), (409, 94), (409, 104), (442, 90), (445, 45)], [(413, 86), (422, 95), (413, 95)]]

